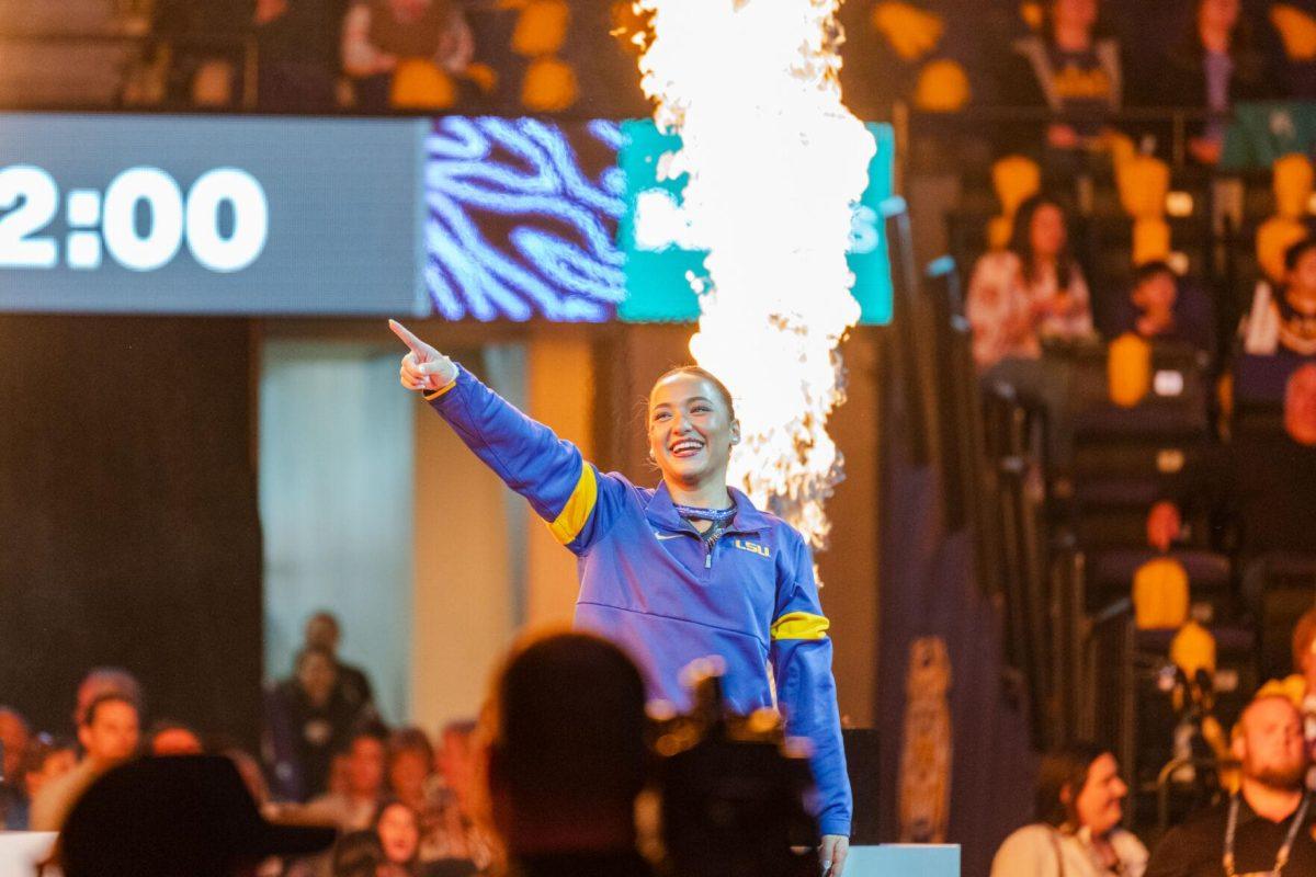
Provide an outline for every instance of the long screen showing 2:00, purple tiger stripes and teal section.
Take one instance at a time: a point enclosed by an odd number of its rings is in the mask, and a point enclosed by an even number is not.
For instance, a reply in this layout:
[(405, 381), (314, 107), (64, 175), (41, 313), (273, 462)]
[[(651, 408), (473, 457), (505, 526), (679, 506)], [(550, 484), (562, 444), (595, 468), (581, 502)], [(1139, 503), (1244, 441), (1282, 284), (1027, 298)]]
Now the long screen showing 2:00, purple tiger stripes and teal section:
[[(869, 130), (849, 259), (884, 323)], [(4, 114), (0, 310), (692, 321), (678, 147), (647, 121)]]

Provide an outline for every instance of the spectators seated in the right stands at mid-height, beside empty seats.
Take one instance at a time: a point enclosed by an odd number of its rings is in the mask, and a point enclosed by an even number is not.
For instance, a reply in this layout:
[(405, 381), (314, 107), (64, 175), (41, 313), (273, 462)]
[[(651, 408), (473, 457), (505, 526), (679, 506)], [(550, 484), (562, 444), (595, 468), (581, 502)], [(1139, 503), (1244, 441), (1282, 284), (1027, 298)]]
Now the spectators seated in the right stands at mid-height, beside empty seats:
[[(1244, 560), (1271, 550), (1316, 552), (1304, 523), (1308, 485), (1316, 484), (1309, 423), (1316, 405), (1316, 237), (1287, 249), (1278, 283), (1258, 283), (1253, 306), (1221, 350), (1215, 301), (1165, 259), (1133, 267), (1124, 288), (1090, 292), (1067, 245), (1069, 222), (1059, 199), (1036, 195), (1017, 209), (1007, 246), (974, 266), (965, 308), (983, 384), (1008, 384), (1045, 408), (1054, 438), (1050, 463), (1063, 473), (1074, 427), (1070, 351), (1126, 338), (1148, 348), (1190, 351), (1207, 380), (1221, 377), (1209, 405), (1219, 421), (1216, 440), (1190, 465), (1159, 479), (1162, 498), (1191, 494), (1217, 525), (1212, 547)], [(1108, 351), (1112, 393), (1121, 369), (1130, 368), (1116, 355), (1119, 347), (1112, 343)], [(1141, 362), (1149, 368), (1149, 360)], [(1138, 359), (1132, 363), (1136, 371)], [(1258, 373), (1270, 387), (1258, 388)], [(1144, 375), (1141, 383), (1148, 380)], [(1274, 410), (1274, 425), (1241, 421), (1232, 410), (1236, 402)]]

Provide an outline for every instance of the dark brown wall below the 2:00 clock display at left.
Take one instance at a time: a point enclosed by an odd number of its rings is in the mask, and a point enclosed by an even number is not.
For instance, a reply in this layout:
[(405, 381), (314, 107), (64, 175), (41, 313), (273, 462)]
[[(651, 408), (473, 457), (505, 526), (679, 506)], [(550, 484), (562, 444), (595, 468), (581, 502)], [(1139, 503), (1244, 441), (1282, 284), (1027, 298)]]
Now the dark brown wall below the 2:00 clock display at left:
[(147, 721), (254, 743), (250, 347), (237, 320), (0, 317), (0, 702), (37, 727), (113, 664)]

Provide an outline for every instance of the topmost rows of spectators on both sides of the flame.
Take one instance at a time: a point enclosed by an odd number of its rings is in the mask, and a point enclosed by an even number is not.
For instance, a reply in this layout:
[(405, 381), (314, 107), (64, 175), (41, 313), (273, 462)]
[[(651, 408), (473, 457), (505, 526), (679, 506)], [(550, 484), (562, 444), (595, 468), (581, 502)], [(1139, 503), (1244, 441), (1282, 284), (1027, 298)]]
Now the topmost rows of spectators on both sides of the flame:
[[(154, 4), (147, 55), (170, 84), (138, 87), (179, 101), (240, 105), (253, 76), (262, 109), (318, 113), (579, 109), (582, 87), (624, 92), (624, 114), (644, 112), (633, 38), (644, 21), (625, 3), (565, 0), (226, 0), (211, 11), (182, 0)], [(1123, 130), (1166, 146), (1163, 122), (1130, 128), (1126, 110), (1192, 110), (1188, 156), (1220, 160), (1225, 120), (1242, 101), (1316, 96), (1311, 38), (1316, 9), (1304, 0), (1171, 0), (1146, 14), (1124, 0), (869, 0), (853, 4), (842, 54), (845, 87), (861, 108), (886, 116), (898, 99), (944, 112), (965, 107), (1029, 110), (998, 146), (1082, 163)], [(966, 26), (973, 18), (975, 26)], [(962, 32), (962, 33), (961, 33)], [(216, 45), (253, 41), (243, 62)], [(220, 41), (222, 42), (222, 41)], [(609, 62), (594, 62), (608, 55)], [(901, 93), (900, 71), (871, 68), (869, 55), (921, 66)], [(246, 70), (254, 62), (251, 70)], [(150, 68), (150, 63), (146, 68)], [(890, 75), (890, 74), (895, 75)], [(587, 74), (613, 82), (578, 82)], [(149, 101), (143, 101), (149, 103)]]

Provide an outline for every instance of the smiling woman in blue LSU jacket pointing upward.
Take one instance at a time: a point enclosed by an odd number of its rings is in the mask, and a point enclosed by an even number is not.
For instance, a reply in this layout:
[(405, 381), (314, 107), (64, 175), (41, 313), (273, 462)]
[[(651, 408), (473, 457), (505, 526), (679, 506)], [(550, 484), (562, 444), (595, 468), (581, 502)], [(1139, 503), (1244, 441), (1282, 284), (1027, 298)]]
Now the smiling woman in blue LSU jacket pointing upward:
[(851, 798), (829, 622), (804, 538), (726, 484), (740, 422), (722, 383), (696, 367), (658, 379), (649, 394), (647, 433), (662, 480), (641, 488), (599, 472), (575, 446), (447, 356), (400, 323), (390, 326), (409, 348), (403, 387), (422, 392), (580, 559), (578, 627), (626, 648), (650, 698), (676, 709), (690, 706), (680, 671), (717, 655), (730, 709), (747, 714), (776, 706), (787, 734), (811, 740), (820, 853), (832, 877), (840, 877)]

